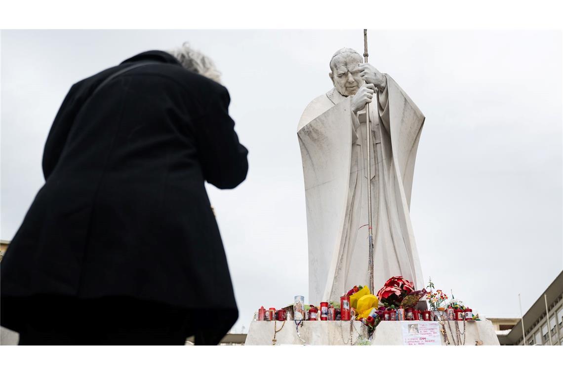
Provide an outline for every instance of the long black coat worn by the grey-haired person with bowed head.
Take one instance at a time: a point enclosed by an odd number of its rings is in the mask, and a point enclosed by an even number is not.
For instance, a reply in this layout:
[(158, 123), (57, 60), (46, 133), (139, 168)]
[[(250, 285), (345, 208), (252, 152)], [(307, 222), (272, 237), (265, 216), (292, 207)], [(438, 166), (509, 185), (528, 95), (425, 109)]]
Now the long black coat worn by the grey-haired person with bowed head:
[[(92, 96), (140, 61), (159, 64)], [(232, 325), (238, 310), (204, 187), (234, 188), (247, 175), (229, 101), (225, 87), (162, 51), (74, 84), (47, 138), (45, 184), (2, 260), (2, 297), (133, 296), (221, 309)]]

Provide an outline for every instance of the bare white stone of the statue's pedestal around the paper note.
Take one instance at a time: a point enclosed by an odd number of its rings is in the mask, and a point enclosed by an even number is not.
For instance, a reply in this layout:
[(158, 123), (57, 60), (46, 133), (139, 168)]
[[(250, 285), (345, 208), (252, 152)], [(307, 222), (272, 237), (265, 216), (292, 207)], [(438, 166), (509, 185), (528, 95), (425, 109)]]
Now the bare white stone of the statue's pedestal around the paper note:
[[(370, 338), (371, 345), (404, 345), (402, 322), (381, 322), (377, 326)], [(413, 322), (415, 323), (415, 322)], [(489, 320), (477, 322), (466, 322), (465, 332), (463, 322), (430, 322), (438, 326), (445, 323), (446, 334), (449, 338), (449, 345), (457, 343), (457, 333), (455, 324), (459, 327), (459, 332), (465, 338), (465, 345), (500, 345), (493, 324)], [(303, 322), (303, 327), (299, 326), (302, 342), (297, 336), (296, 324), (293, 320), (275, 322), (275, 328), (280, 330), (276, 333), (276, 345), (350, 345), (350, 322)], [(361, 322), (354, 322), (352, 327), (352, 344), (359, 344), (362, 338), (368, 338), (367, 327)], [(245, 345), (272, 345), (274, 338), (274, 322), (252, 322), (248, 329)], [(444, 343), (444, 335), (440, 332), (440, 345)]]

